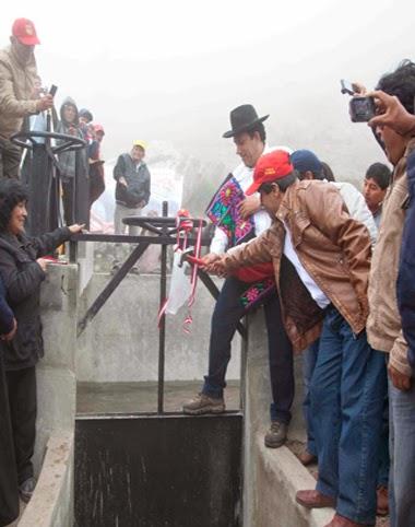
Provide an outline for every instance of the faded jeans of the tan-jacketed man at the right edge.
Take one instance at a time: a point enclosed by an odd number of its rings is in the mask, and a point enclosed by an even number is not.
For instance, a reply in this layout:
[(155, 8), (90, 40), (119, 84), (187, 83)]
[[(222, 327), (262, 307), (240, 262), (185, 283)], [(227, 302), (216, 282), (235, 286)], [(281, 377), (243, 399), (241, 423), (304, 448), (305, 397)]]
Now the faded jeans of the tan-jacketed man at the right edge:
[(389, 383), (391, 527), (415, 525), (415, 386), (401, 391)]

